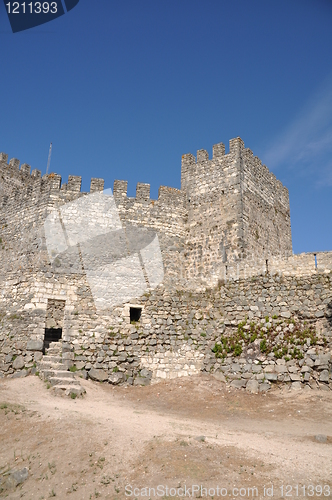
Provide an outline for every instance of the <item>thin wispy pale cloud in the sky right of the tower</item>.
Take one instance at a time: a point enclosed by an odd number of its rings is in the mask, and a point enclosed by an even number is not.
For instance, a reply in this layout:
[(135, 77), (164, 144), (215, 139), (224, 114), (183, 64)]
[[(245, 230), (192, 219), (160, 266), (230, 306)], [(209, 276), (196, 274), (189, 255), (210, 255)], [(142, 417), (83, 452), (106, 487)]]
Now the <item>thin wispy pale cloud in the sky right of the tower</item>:
[(272, 169), (301, 164), (302, 171), (322, 176), (319, 185), (326, 185), (326, 174), (328, 179), (332, 176), (331, 153), (332, 75), (278, 140), (271, 144), (263, 159)]

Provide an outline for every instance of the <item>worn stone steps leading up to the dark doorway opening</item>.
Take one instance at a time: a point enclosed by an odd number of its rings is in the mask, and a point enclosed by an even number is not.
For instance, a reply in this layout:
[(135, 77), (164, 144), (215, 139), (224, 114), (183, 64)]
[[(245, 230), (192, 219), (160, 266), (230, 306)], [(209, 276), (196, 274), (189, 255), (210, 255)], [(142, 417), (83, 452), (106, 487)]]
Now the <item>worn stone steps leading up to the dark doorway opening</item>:
[(62, 342), (51, 342), (45, 355), (38, 364), (39, 376), (47, 382), (56, 395), (82, 396), (85, 389), (75, 374), (69, 371), (69, 364), (62, 359)]

